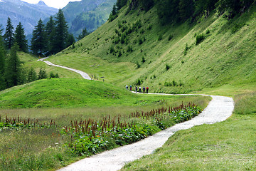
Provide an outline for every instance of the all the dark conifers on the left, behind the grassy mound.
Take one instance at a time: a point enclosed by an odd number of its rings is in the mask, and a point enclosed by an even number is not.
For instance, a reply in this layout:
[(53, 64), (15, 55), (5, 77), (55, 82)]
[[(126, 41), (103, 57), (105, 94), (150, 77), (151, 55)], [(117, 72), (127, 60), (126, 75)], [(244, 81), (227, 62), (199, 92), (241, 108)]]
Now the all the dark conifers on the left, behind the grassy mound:
[[(4, 38), (1, 37), (1, 34), (0, 31), (0, 90), (48, 78), (45, 69), (40, 68), (39, 70), (39, 68), (36, 68), (38, 70), (37, 75), (35, 68), (32, 66), (31, 68), (23, 67), (23, 62), (18, 57), (18, 51), (28, 52), (28, 44), (21, 23), (18, 24), (14, 32), (14, 26), (12, 26), (9, 18)], [(56, 21), (51, 19), (46, 27), (41, 19), (38, 21), (38, 25), (33, 31), (31, 51), (36, 56), (44, 56), (57, 53), (74, 42), (75, 38), (73, 38), (73, 35), (68, 34), (68, 26), (62, 11), (59, 10)], [(55, 51), (51, 51), (52, 49)], [(50, 73), (50, 78), (58, 77), (58, 73)]]

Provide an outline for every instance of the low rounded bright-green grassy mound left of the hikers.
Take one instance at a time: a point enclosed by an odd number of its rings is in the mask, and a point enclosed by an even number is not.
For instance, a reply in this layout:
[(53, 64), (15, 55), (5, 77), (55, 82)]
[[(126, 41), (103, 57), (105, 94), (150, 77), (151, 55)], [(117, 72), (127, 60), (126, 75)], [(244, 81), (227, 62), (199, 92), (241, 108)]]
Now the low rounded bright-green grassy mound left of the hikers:
[(53, 78), (4, 90), (0, 93), (0, 108), (125, 105), (132, 97), (127, 90), (99, 81)]

